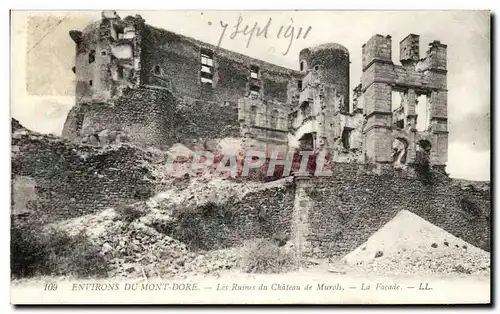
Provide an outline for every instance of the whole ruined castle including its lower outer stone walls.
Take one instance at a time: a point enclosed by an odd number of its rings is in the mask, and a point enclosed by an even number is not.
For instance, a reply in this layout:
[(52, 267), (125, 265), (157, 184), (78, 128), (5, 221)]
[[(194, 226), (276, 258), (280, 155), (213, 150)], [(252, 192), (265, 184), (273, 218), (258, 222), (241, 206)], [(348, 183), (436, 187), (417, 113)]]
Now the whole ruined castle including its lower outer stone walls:
[[(208, 248), (283, 233), (301, 255), (342, 256), (406, 210), (490, 250), (489, 184), (464, 186), (444, 173), (446, 45), (432, 42), (421, 58), (410, 34), (395, 64), (391, 37), (373, 36), (351, 93), (349, 51), (335, 43), (303, 49), (293, 70), (114, 12), (70, 36), (76, 104), (63, 136), (71, 141), (13, 132), (15, 186), (39, 198), (30, 205), (37, 221), (143, 204), (171, 187), (165, 150), (212, 151), (235, 138), (247, 149), (328, 152), (333, 175), (259, 184), (224, 203), (227, 217), (217, 207), (193, 212), (202, 217), (187, 231), (210, 234), (200, 238)], [(107, 145), (126, 141), (134, 145)], [(413, 172), (419, 165), (432, 167), (431, 180)]]

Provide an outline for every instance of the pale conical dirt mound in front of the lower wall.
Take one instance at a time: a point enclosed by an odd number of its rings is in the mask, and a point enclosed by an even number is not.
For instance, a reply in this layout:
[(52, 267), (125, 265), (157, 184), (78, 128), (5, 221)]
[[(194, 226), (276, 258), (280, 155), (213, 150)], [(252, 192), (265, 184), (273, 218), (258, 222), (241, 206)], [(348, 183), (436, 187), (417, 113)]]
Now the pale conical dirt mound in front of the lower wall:
[(490, 270), (488, 252), (406, 210), (343, 261), (364, 271), (391, 274), (487, 274)]

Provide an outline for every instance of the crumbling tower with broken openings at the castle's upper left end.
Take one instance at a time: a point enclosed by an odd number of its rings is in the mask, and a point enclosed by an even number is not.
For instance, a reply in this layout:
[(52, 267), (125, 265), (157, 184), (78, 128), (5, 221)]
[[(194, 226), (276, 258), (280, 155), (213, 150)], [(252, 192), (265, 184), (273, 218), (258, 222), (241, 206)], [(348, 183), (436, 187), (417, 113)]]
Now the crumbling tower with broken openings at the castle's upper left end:
[(76, 44), (76, 102), (107, 101), (124, 87), (140, 83), (140, 16), (121, 19), (115, 11), (103, 11), (101, 20), (72, 30)]

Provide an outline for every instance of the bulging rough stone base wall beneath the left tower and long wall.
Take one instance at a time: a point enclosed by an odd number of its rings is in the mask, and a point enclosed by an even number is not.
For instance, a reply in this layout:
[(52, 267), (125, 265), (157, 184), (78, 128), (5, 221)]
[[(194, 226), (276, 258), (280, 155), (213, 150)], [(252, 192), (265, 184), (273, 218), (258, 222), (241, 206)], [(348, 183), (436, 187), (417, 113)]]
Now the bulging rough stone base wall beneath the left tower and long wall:
[(180, 100), (164, 88), (126, 89), (109, 103), (80, 104), (68, 114), (63, 136), (76, 139), (120, 131), (139, 146), (168, 148), (199, 139), (238, 137), (237, 103)]

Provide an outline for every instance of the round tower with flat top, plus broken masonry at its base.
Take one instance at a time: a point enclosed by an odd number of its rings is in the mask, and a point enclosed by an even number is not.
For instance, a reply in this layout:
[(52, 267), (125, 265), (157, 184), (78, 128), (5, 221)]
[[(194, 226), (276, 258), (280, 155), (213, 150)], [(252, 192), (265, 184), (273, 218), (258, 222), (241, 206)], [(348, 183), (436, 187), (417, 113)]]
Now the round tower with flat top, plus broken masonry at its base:
[[(291, 111), (291, 132), (301, 149), (332, 151), (338, 116), (349, 112), (349, 51), (336, 43), (303, 49), (299, 103)], [(340, 131), (341, 133), (341, 131)]]

